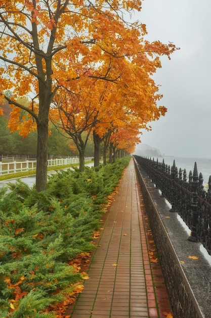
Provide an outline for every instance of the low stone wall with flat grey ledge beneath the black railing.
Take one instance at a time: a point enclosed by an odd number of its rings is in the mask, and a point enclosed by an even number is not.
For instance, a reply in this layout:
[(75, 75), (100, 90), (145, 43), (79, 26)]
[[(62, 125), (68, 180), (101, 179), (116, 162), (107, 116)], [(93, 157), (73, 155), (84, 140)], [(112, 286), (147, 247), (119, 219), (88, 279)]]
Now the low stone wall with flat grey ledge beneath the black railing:
[(178, 213), (170, 212), (171, 206), (136, 161), (135, 167), (174, 318), (210, 318), (211, 258), (200, 243), (187, 240), (190, 232)]

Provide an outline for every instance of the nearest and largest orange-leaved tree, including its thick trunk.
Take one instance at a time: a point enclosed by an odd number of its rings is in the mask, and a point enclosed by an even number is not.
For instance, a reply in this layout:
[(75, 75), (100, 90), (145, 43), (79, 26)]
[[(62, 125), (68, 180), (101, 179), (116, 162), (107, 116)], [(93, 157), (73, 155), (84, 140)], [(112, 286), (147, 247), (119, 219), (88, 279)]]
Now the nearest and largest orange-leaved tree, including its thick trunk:
[[(123, 20), (134, 9), (141, 10), (141, 1), (0, 0), (0, 95), (12, 107), (12, 129), (25, 135), (36, 126), (37, 191), (46, 189), (48, 122), (61, 89), (81, 98), (91, 80), (98, 111), (98, 87), (108, 82), (118, 107), (133, 105), (143, 123), (164, 114), (151, 75), (160, 67), (158, 56), (170, 57), (176, 47), (147, 42), (145, 25)], [(27, 106), (21, 103), (26, 96)]]

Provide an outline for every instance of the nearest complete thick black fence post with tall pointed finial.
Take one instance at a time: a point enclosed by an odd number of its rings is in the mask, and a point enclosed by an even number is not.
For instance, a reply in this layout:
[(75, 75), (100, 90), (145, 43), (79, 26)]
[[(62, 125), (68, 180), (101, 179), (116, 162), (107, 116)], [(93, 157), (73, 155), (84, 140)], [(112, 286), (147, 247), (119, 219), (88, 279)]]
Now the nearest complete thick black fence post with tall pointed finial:
[(199, 180), (198, 180), (198, 171), (196, 163), (194, 165), (193, 178), (191, 181), (191, 213), (192, 213), (192, 227), (191, 227), (191, 235), (188, 240), (191, 242), (198, 242), (197, 235), (197, 218), (198, 218), (198, 197), (197, 197), (197, 188), (198, 188)]

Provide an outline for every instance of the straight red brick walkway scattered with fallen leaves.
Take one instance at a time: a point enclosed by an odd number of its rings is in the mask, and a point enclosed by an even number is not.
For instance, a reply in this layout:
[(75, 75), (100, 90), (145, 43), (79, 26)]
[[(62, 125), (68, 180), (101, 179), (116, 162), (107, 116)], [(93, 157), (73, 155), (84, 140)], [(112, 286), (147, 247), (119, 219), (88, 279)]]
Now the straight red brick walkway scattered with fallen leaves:
[(67, 315), (164, 318), (171, 313), (133, 159), (105, 215), (98, 245), (90, 279)]

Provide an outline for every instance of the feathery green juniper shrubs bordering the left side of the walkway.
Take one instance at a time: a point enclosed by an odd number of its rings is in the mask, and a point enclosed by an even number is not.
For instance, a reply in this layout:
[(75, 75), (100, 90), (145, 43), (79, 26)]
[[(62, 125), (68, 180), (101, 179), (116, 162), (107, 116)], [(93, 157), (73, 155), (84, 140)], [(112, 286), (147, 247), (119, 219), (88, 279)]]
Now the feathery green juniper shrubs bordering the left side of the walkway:
[(72, 260), (95, 247), (103, 206), (129, 161), (58, 171), (41, 193), (20, 180), (0, 190), (1, 318), (61, 316), (58, 303), (86, 278)]

